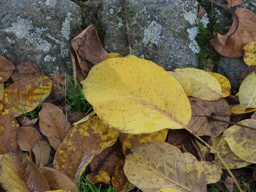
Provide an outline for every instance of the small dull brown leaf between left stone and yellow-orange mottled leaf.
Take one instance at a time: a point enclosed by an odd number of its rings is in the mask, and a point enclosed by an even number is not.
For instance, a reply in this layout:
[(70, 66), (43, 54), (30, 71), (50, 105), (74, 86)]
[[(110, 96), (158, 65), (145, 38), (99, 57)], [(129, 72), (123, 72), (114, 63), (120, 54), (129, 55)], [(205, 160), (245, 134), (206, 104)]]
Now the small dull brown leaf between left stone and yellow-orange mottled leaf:
[(35, 75), (41, 71), (39, 65), (30, 61), (25, 61), (18, 64), (15, 67), (15, 71), (12, 73), (12, 80), (18, 81), (28, 76)]

